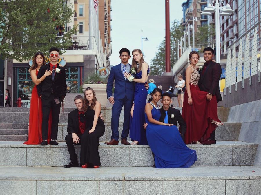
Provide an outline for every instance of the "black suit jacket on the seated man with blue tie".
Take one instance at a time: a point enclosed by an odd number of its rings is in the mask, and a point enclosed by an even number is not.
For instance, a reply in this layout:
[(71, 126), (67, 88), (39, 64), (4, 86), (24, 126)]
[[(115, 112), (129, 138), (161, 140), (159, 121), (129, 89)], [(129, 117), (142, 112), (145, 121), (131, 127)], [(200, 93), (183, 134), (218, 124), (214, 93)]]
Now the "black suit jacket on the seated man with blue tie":
[[(186, 126), (186, 122), (184, 121), (184, 119), (180, 114), (180, 111), (172, 107), (169, 107), (167, 111), (168, 111), (168, 123), (177, 126), (177, 122), (179, 122), (180, 133), (182, 135), (185, 135), (187, 126)], [(159, 121), (164, 123), (164, 118), (166, 116), (166, 113), (163, 107), (161, 107), (160, 112), (161, 112), (161, 116)], [(171, 114), (174, 114), (174, 118), (171, 118)]]

